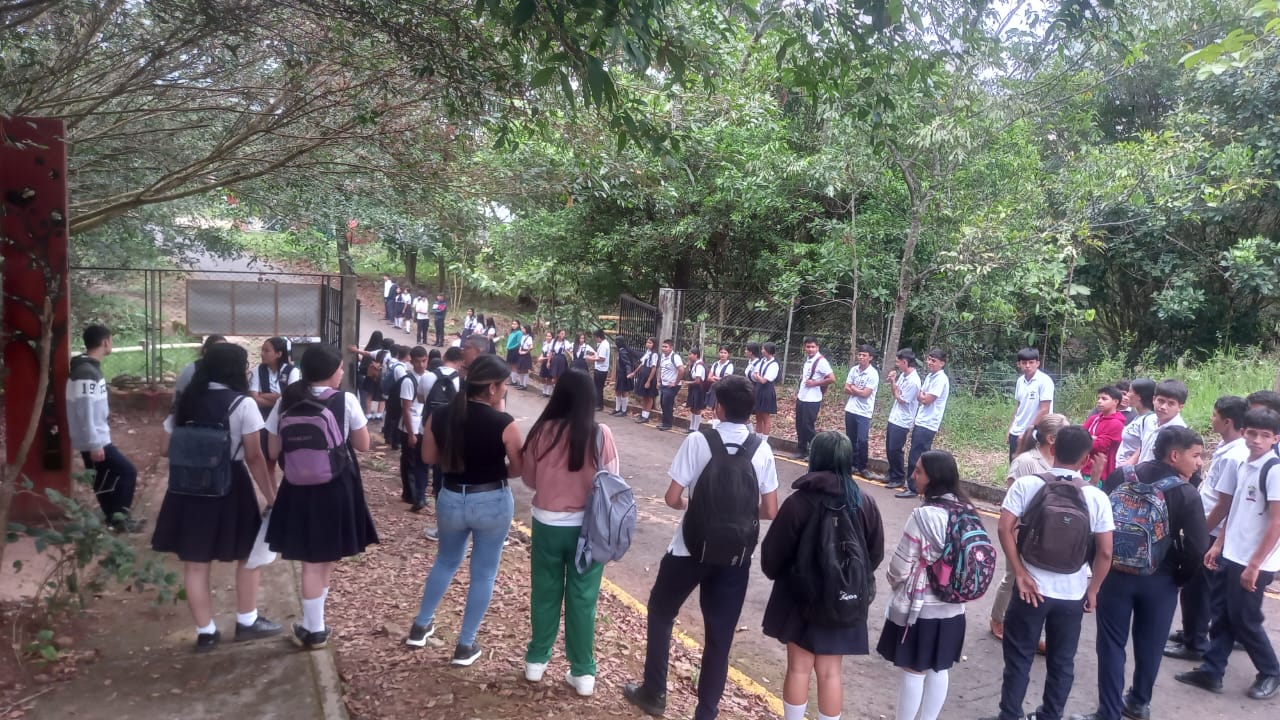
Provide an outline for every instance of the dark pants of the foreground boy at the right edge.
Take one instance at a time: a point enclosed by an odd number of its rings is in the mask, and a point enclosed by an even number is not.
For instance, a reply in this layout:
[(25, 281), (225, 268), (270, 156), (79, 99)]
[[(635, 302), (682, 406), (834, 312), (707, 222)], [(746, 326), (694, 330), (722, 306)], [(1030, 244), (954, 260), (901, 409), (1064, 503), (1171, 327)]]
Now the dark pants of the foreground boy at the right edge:
[(1219, 557), (1217, 565), (1222, 574), (1224, 602), (1208, 623), (1208, 650), (1204, 652), (1201, 669), (1221, 678), (1226, 673), (1231, 648), (1239, 642), (1249, 653), (1249, 660), (1260, 675), (1280, 675), (1276, 651), (1271, 647), (1266, 628), (1262, 626), (1262, 596), (1275, 579), (1275, 573), (1258, 573), (1258, 589), (1249, 592), (1240, 587), (1244, 565), (1225, 557)]

